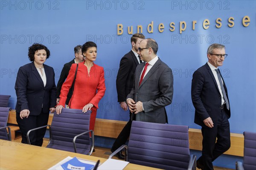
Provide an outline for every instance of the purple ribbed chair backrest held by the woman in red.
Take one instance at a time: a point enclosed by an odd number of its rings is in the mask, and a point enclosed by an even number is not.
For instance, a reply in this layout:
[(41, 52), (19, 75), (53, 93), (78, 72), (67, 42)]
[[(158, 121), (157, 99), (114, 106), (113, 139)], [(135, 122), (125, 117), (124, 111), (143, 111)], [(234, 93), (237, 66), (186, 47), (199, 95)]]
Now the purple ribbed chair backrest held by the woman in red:
[[(75, 152), (73, 138), (89, 130), (90, 113), (79, 109), (63, 108), (61, 114), (54, 113), (51, 124), (49, 144), (47, 147)], [(76, 139), (77, 153), (88, 154), (90, 151), (90, 136), (84, 134)]]

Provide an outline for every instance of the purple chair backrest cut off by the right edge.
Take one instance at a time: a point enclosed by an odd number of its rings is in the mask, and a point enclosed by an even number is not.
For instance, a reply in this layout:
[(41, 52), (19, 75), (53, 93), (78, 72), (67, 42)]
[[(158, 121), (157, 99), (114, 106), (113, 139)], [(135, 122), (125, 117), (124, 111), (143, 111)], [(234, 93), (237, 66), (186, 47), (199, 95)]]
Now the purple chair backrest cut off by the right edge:
[(244, 169), (256, 170), (256, 133), (244, 132)]

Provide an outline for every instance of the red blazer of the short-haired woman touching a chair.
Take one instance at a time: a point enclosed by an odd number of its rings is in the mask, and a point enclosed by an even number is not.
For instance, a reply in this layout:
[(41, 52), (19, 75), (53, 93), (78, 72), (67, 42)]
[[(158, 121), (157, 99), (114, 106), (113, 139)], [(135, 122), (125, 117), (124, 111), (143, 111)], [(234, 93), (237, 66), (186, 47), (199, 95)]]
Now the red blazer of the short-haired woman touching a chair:
[[(73, 64), (71, 65), (66, 81), (62, 85), (59, 105), (65, 106), (67, 94), (73, 84), (75, 72), (76, 64)], [(106, 87), (103, 67), (93, 63), (93, 66), (90, 69), (90, 74), (88, 74), (84, 62), (80, 62), (76, 74), (74, 92), (69, 103), (70, 108), (82, 109), (88, 103), (92, 103), (96, 109), (98, 108), (98, 103), (104, 96), (105, 91)]]

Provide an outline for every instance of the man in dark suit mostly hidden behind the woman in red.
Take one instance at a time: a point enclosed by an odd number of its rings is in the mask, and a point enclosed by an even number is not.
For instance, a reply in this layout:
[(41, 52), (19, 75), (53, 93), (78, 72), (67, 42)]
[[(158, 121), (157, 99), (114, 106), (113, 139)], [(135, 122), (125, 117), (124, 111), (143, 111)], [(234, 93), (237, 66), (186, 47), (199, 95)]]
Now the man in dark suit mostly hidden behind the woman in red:
[[(63, 66), (63, 68), (61, 70), (60, 79), (59, 79), (58, 84), (57, 84), (57, 102), (56, 102), (57, 104), (58, 104), (58, 102), (60, 100), (61, 86), (63, 85), (63, 83), (67, 79), (67, 75), (68, 75), (68, 73), (70, 71), (71, 65), (74, 64), (74, 63), (79, 63), (79, 62), (83, 62), (84, 61), (84, 56), (83, 56), (83, 54), (81, 52), (81, 48), (82, 48), (82, 45), (77, 45), (74, 48), (75, 58), (72, 59), (70, 62), (67, 62), (66, 64), (64, 64), (64, 66)], [(66, 105), (68, 105), (68, 103), (70, 101), (72, 88), (73, 87), (70, 88), (70, 91), (67, 94)]]

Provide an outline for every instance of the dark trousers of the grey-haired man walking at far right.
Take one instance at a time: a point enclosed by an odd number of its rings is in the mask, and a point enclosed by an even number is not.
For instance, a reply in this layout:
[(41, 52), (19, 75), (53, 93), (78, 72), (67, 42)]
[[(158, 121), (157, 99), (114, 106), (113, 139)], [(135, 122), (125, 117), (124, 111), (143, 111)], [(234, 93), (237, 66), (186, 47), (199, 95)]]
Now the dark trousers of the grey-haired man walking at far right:
[(212, 161), (230, 148), (230, 124), (226, 108), (221, 109), (219, 114), (221, 115), (214, 127), (202, 127), (203, 150), (198, 161), (204, 165), (203, 170), (213, 170)]

